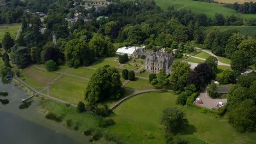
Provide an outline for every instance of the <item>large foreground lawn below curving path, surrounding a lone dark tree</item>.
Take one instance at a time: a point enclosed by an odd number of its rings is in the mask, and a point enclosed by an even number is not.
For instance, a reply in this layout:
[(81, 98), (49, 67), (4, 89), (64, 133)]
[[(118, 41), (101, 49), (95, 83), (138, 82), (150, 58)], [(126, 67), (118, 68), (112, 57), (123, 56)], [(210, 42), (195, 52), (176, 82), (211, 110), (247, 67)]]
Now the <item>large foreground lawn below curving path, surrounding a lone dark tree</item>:
[[(176, 105), (177, 96), (171, 92), (149, 92), (136, 95), (114, 109), (110, 116), (116, 122), (106, 128), (125, 143), (165, 143), (165, 131), (160, 124), (162, 110), (181, 107), (188, 118), (190, 131), (183, 134), (192, 144), (254, 143), (256, 133), (238, 133), (226, 117), (201, 113), (191, 107)], [(154, 137), (150, 139), (150, 137)]]

